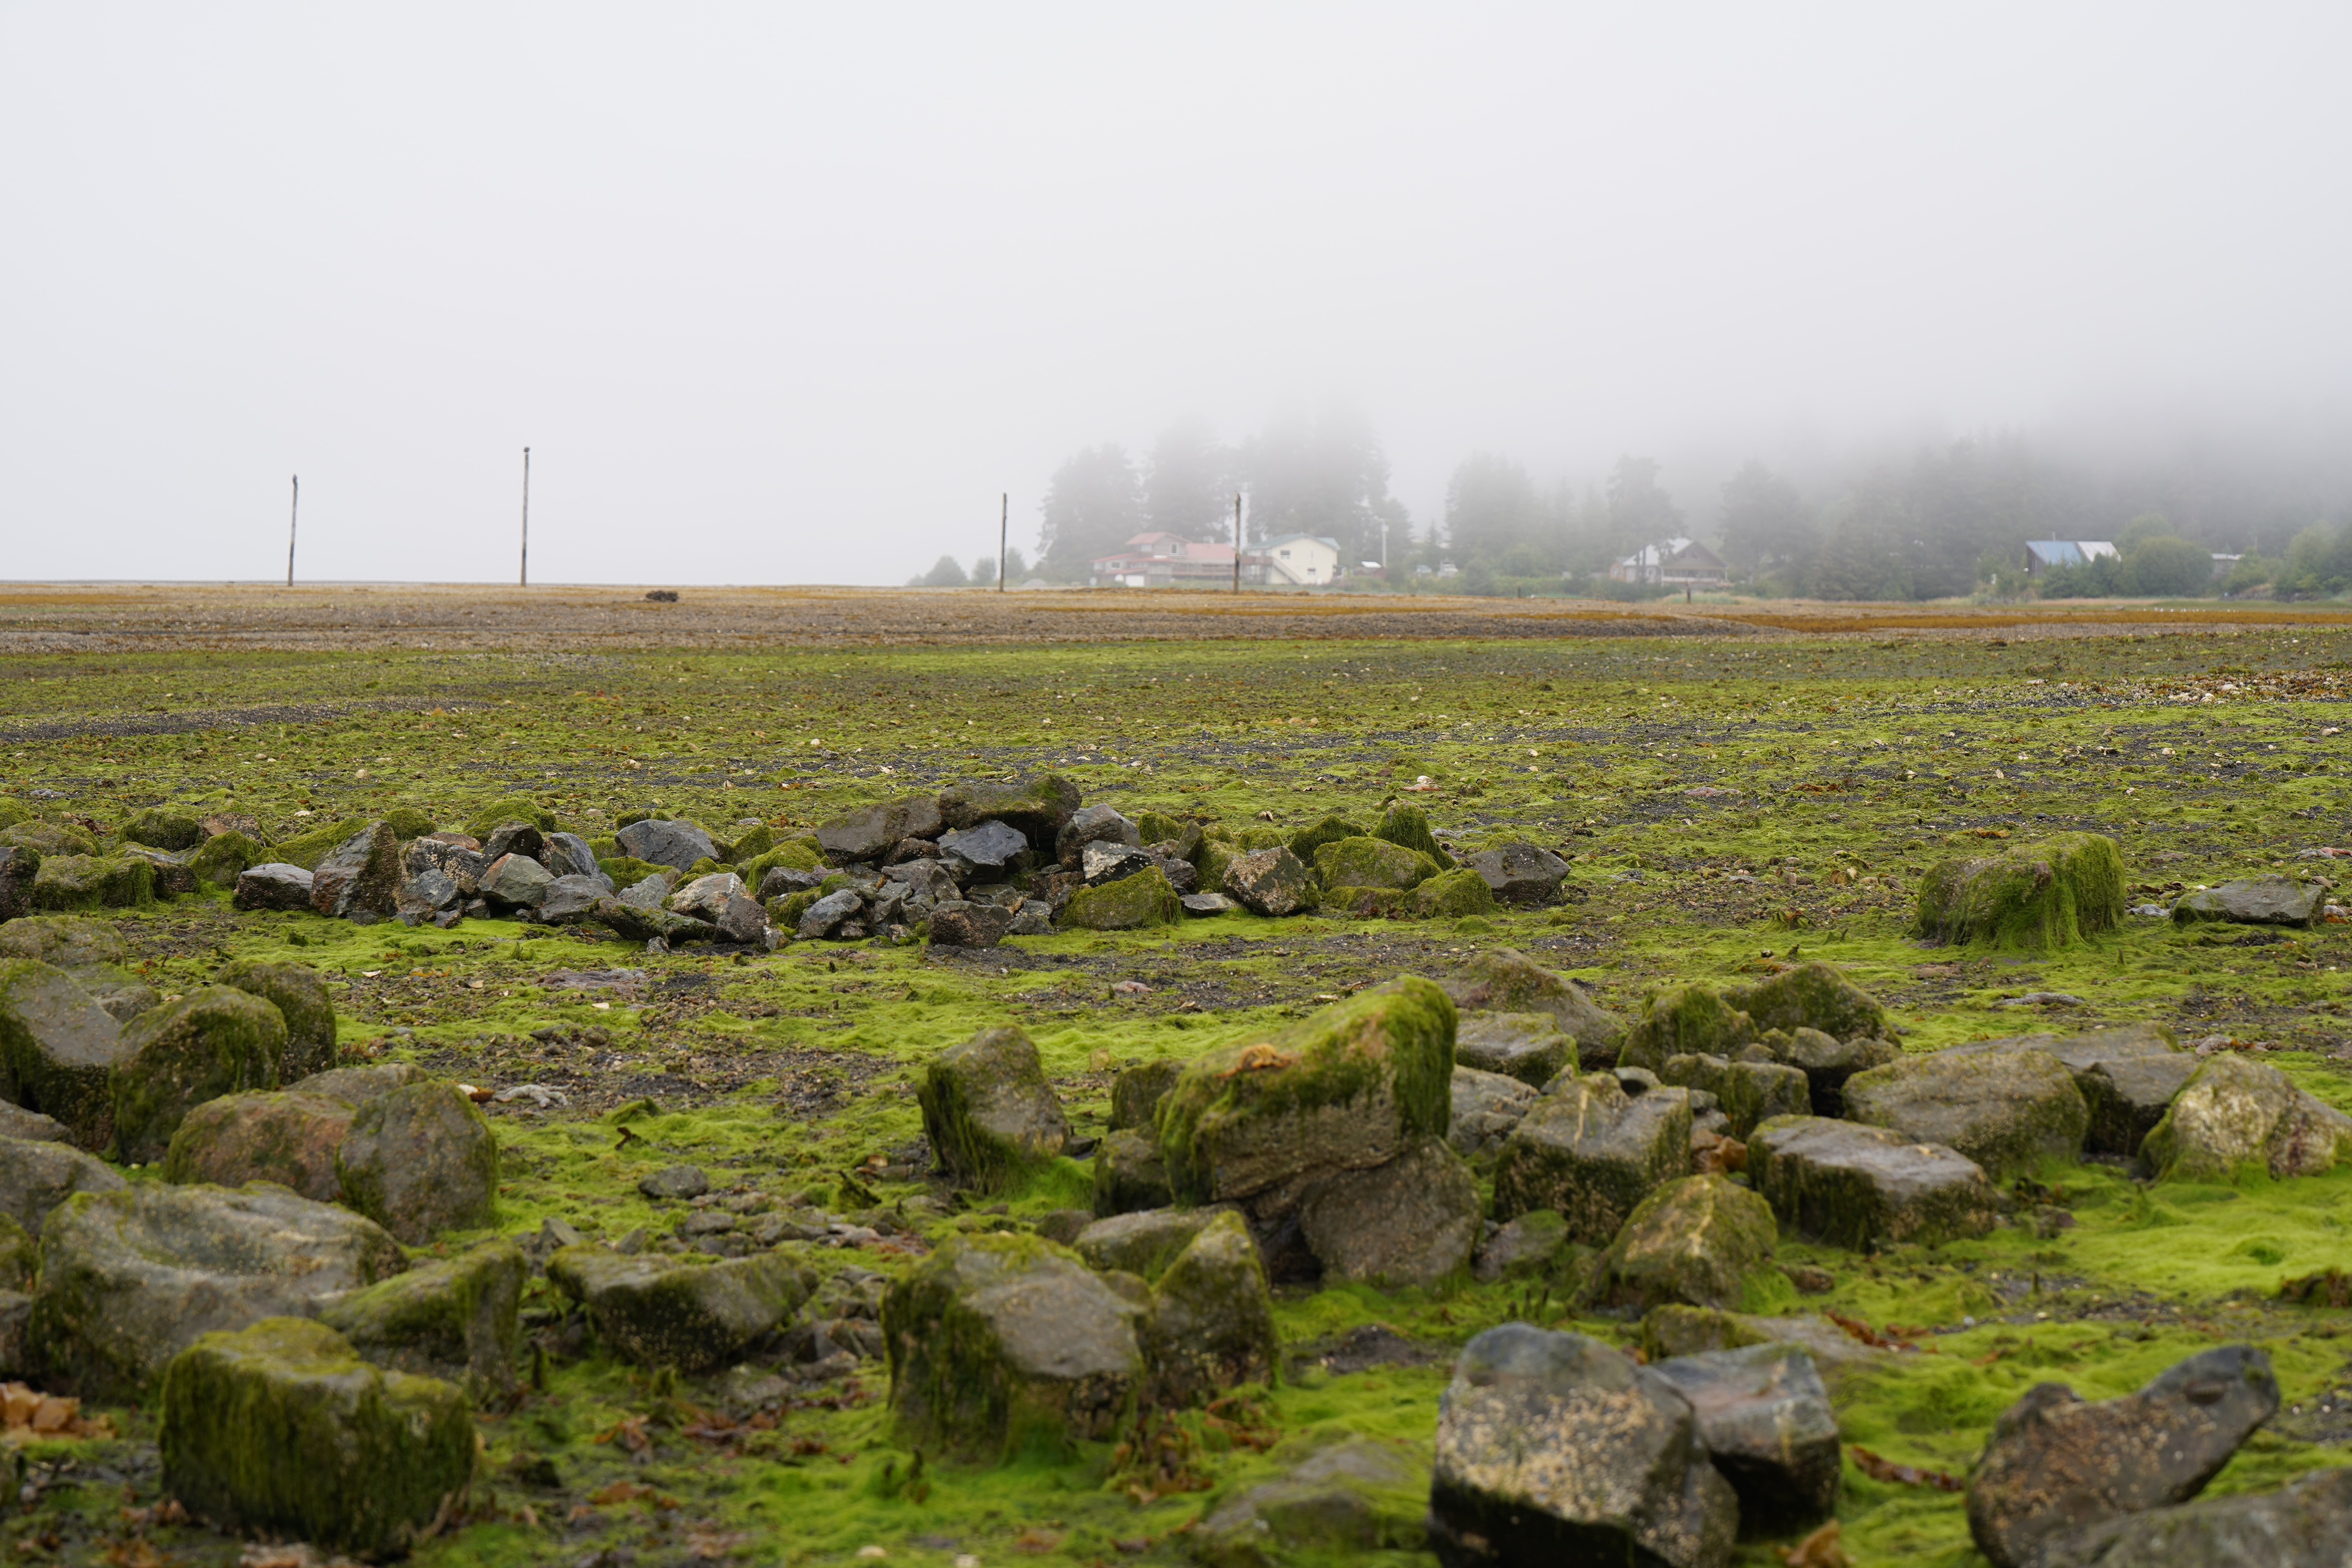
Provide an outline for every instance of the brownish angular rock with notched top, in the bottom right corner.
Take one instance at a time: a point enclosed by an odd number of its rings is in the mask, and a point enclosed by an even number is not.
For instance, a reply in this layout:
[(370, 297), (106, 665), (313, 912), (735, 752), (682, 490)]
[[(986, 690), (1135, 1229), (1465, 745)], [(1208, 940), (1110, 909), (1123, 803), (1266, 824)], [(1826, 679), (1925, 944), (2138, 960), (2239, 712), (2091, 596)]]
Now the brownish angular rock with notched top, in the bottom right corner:
[(2225, 1345), (2122, 1399), (2084, 1403), (2039, 1382), (2002, 1413), (1969, 1474), (1969, 1535), (1994, 1568), (2122, 1514), (2187, 1502), (2279, 1413), (2270, 1356)]

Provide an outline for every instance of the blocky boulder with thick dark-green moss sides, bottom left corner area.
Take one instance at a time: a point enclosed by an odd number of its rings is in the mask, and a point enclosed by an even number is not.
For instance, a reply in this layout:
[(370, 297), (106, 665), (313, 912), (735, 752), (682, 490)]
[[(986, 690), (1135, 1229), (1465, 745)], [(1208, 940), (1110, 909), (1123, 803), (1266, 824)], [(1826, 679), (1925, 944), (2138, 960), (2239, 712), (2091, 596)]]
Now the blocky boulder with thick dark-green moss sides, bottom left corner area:
[(238, 1533), (402, 1556), (473, 1481), (466, 1394), (386, 1373), (336, 1331), (266, 1319), (209, 1333), (162, 1378), (165, 1488)]

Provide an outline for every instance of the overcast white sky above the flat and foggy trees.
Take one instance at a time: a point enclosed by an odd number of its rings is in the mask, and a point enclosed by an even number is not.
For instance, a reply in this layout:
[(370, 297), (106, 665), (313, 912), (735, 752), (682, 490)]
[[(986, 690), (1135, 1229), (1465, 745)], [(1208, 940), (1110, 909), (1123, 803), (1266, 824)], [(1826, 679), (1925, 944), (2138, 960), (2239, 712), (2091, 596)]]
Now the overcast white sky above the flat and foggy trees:
[[(889, 583), (1075, 447), (2352, 430), (2345, 5), (0, 0), (0, 578)], [(1710, 477), (1712, 482), (1712, 477)]]

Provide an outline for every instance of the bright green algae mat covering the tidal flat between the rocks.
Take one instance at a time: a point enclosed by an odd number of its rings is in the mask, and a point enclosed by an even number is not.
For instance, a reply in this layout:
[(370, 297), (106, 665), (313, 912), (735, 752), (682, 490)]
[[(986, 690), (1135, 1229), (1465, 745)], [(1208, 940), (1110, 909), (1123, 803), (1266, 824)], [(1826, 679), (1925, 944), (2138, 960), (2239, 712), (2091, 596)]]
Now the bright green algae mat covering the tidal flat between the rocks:
[[(849, 1246), (811, 1248), (821, 1274), (889, 1276), (948, 1234), (1018, 1232), (1089, 1201), (1077, 1161), (988, 1197), (934, 1180), (915, 1103), (931, 1053), (1021, 1025), (1091, 1138), (1124, 1065), (1263, 1037), (1486, 947), (1519, 947), (1628, 1016), (1670, 985), (1823, 959), (1886, 1004), (1912, 1051), (2157, 1020), (2352, 1110), (2352, 926), (2126, 914), (2060, 950), (1912, 936), (1933, 865), (2056, 835), (2110, 837), (2136, 907), (2258, 872), (2331, 875), (2319, 851), (2352, 846), (2347, 658), (2352, 635), (2326, 625), (2011, 646), (1750, 630), (14, 656), (0, 806), (85, 830), (158, 804), (228, 811), (285, 842), (402, 809), (461, 825), (520, 795), (586, 837), (654, 811), (783, 839), (884, 797), (1049, 769), (1127, 816), (1287, 835), (1409, 802), (1454, 853), (1529, 839), (1569, 858), (1566, 900), (1548, 910), (1235, 914), (976, 952), (649, 954), (501, 919), (409, 931), (240, 914), (219, 893), (108, 912), (162, 992), (228, 959), (303, 961), (334, 985), (346, 1063), (534, 1086), (485, 1107), (503, 1145), (499, 1234), (550, 1218), (668, 1234), (680, 1208), (637, 1182), (696, 1164), (746, 1211), (856, 1220)], [(2002, 1408), (2046, 1380), (2122, 1394), (2216, 1342), (2267, 1349), (2286, 1406), (2213, 1490), (2343, 1462), (2352, 1312), (2281, 1298), (2281, 1281), (2352, 1265), (2352, 1171), (2197, 1187), (2060, 1164), (2013, 1197), (2020, 1222), (1980, 1241), (1780, 1244), (1783, 1265), (1830, 1281), (1802, 1307), (1851, 1324), (1832, 1387), (1853, 1563), (1983, 1561), (1936, 1476), (1966, 1472)], [(1272, 1387), (1141, 1418), (1077, 1458), (957, 1469), (891, 1439), (880, 1361), (746, 1403), (762, 1368), (642, 1373), (567, 1340), (553, 1307), (534, 1281), (529, 1387), (477, 1415), (480, 1481), (419, 1563), (1190, 1561), (1207, 1507), (1315, 1439), (1428, 1453), (1451, 1354), (1482, 1328), (1534, 1319), (1639, 1342), (1635, 1321), (1578, 1316), (1526, 1284), (1282, 1288)], [(9, 1434), (12, 1552), (275, 1561), (176, 1521), (153, 1410), (99, 1413), (120, 1436)], [(1743, 1542), (1736, 1561), (1776, 1563), (1788, 1544)]]

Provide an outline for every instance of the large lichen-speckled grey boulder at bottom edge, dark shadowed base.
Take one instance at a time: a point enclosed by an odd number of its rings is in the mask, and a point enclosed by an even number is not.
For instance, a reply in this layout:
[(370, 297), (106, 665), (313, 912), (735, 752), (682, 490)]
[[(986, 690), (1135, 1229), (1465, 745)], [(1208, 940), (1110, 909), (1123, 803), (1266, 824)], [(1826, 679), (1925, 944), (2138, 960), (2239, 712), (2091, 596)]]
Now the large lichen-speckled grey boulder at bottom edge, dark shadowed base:
[(1446, 1568), (1722, 1568), (1738, 1500), (1682, 1392), (1581, 1333), (1489, 1328), (1437, 1415), (1430, 1544)]

